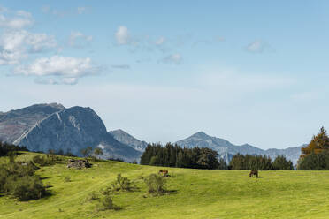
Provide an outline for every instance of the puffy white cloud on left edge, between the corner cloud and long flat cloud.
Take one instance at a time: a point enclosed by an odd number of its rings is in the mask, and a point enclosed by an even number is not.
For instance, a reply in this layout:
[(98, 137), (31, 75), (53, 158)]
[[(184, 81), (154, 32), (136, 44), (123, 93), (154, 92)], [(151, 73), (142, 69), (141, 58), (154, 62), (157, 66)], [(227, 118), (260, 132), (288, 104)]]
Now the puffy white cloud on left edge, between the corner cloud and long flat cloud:
[(42, 52), (55, 48), (54, 36), (34, 34), (25, 30), (6, 31), (0, 35), (0, 65), (18, 64), (27, 52)]

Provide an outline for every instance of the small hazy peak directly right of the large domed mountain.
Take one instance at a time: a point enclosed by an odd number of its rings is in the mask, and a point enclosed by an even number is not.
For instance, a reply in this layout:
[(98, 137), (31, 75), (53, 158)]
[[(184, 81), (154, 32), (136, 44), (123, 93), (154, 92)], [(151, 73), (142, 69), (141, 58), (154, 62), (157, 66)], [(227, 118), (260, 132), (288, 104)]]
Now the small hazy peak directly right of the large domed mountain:
[(119, 142), (133, 147), (135, 150), (143, 152), (145, 148), (148, 146), (148, 143), (145, 141), (137, 140), (132, 135), (128, 134), (127, 132), (124, 132), (121, 129), (114, 130), (109, 132), (115, 140), (118, 140)]

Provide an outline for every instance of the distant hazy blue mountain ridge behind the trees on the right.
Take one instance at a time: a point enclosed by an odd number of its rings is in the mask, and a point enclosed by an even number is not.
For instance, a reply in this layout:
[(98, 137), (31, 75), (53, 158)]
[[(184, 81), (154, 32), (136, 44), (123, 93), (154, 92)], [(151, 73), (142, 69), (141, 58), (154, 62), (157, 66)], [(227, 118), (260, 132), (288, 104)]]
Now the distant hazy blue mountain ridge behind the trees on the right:
[(185, 140), (177, 141), (176, 144), (180, 147), (209, 147), (217, 151), (219, 157), (224, 158), (226, 162), (230, 162), (233, 155), (240, 153), (242, 155), (268, 155), (272, 159), (275, 159), (278, 155), (284, 155), (295, 165), (301, 155), (301, 147), (263, 150), (249, 144), (236, 146), (227, 140), (211, 137), (204, 132), (196, 132)]

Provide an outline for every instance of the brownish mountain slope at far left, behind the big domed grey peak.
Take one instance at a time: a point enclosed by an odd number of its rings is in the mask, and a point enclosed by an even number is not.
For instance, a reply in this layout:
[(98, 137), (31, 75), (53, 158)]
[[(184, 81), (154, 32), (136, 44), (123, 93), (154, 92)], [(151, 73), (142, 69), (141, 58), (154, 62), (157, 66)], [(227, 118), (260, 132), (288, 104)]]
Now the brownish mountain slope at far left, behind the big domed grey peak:
[(60, 104), (50, 103), (0, 113), (0, 140), (12, 143), (33, 127), (36, 122), (63, 109), (65, 107)]

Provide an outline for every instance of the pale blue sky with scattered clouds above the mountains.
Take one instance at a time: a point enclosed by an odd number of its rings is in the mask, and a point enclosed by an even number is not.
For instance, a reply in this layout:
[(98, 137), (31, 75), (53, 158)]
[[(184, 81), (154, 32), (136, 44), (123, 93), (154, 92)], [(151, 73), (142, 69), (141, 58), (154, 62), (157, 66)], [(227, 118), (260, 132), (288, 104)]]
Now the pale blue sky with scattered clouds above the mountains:
[(298, 147), (329, 127), (328, 1), (0, 3), (0, 111), (90, 107), (148, 142)]

